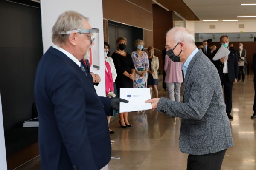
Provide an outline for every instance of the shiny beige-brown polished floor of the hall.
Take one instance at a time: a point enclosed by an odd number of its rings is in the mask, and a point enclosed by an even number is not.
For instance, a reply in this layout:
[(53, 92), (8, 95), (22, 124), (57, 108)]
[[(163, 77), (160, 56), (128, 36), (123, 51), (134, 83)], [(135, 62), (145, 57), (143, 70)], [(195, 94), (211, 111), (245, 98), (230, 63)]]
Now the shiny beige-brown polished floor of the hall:
[[(253, 114), (253, 75), (233, 86), (234, 147), (228, 148), (221, 170), (256, 170), (256, 119)], [(167, 97), (160, 90), (159, 96)], [(186, 170), (187, 154), (179, 150), (180, 118), (156, 111), (131, 112), (127, 129), (111, 123), (112, 157), (106, 170)], [(116, 159), (119, 158), (119, 159)], [(17, 170), (40, 170), (39, 157)]]

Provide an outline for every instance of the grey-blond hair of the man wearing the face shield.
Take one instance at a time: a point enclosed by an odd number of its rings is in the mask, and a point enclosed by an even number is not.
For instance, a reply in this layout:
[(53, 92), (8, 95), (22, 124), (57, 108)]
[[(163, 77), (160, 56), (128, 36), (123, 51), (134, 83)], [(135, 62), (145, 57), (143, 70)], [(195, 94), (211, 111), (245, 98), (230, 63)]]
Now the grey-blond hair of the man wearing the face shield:
[(62, 13), (52, 27), (52, 42), (55, 44), (64, 44), (70, 34), (59, 33), (61, 31), (85, 29), (84, 20), (88, 21), (88, 18), (76, 11), (65, 11)]

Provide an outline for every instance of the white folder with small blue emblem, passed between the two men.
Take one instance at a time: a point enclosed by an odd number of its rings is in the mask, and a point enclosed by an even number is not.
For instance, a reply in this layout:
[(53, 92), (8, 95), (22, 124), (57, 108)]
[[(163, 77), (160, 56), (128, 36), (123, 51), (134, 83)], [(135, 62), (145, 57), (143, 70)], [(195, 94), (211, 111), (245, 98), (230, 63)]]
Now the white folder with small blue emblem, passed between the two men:
[(129, 101), (120, 103), (120, 113), (152, 109), (151, 103), (145, 103), (151, 99), (150, 88), (120, 88), (119, 96)]

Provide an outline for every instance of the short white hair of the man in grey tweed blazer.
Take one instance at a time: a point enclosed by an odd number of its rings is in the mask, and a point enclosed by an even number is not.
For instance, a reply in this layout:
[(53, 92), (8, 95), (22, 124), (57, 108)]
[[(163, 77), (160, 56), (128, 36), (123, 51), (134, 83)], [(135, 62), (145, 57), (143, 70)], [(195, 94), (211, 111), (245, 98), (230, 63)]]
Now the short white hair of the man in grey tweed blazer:
[(175, 41), (175, 43), (179, 43), (180, 41), (185, 42), (186, 44), (190, 44), (190, 45), (195, 45), (195, 38), (193, 37), (193, 35), (189, 32), (188, 29), (184, 28), (184, 27), (173, 27), (172, 29), (170, 29), (167, 33), (166, 36), (170, 33), (173, 33), (173, 39)]

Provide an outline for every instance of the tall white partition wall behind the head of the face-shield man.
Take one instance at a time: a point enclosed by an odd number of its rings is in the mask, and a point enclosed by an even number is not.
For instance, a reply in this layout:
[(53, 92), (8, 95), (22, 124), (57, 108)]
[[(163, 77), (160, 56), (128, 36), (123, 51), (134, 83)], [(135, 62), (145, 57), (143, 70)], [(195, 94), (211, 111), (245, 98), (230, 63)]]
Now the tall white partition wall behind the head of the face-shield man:
[(99, 29), (99, 70), (91, 71), (99, 74), (101, 82), (96, 88), (99, 96), (105, 96), (105, 64), (104, 64), (104, 38), (103, 38), (103, 12), (102, 0), (41, 0), (41, 20), (44, 53), (52, 44), (52, 26), (58, 16), (64, 11), (78, 11), (89, 18), (89, 23), (93, 28)]

